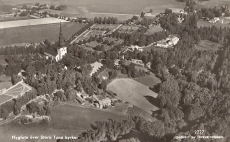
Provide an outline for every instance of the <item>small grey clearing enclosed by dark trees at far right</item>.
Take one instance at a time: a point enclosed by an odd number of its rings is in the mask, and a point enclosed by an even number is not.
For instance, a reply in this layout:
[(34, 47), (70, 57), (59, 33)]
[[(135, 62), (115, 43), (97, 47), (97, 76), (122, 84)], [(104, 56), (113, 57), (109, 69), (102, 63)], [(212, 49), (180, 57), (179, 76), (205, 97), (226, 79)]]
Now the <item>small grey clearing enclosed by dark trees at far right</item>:
[(217, 51), (222, 47), (222, 45), (209, 41), (209, 40), (201, 40), (201, 42), (195, 46), (196, 49), (198, 50), (213, 50)]

